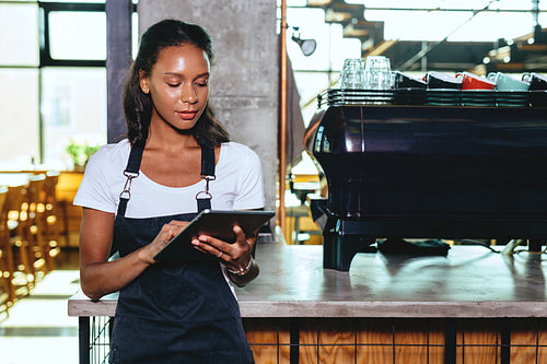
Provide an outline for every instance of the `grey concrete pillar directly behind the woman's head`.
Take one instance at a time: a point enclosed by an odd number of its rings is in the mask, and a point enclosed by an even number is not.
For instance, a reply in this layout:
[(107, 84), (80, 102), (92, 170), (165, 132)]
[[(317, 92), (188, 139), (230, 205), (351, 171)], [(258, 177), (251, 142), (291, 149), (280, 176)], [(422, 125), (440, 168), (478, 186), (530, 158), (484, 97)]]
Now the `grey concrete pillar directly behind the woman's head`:
[(207, 28), (216, 60), (210, 103), (232, 140), (258, 153), (266, 209), (276, 208), (279, 36), (272, 0), (139, 0), (139, 31), (163, 19)]

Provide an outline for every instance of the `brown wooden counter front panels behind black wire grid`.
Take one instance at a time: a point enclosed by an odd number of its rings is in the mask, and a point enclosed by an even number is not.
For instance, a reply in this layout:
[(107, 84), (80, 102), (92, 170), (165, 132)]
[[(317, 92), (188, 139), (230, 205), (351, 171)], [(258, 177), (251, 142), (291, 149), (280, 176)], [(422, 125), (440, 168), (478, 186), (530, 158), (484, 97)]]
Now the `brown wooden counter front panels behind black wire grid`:
[[(545, 363), (545, 319), (511, 319), (511, 363)], [(300, 363), (445, 363), (443, 319), (298, 319), (293, 342)], [(503, 363), (502, 319), (457, 321), (455, 363)], [(294, 322), (293, 322), (294, 325)], [(247, 339), (259, 363), (289, 364), (290, 319), (246, 318)], [(536, 356), (537, 355), (537, 356)]]

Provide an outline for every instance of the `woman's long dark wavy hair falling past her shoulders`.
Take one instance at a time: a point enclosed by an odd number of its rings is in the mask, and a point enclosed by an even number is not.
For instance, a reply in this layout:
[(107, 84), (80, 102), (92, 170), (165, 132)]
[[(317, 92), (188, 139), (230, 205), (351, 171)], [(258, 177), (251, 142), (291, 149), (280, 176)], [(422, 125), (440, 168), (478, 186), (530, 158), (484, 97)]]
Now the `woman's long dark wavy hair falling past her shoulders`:
[[(152, 97), (140, 89), (139, 71), (150, 75), (158, 61), (160, 51), (166, 47), (191, 44), (202, 49), (213, 59), (212, 40), (206, 30), (196, 24), (177, 20), (164, 20), (150, 26), (142, 35), (137, 59), (129, 68), (124, 89), (124, 114), (127, 125), (127, 138), (131, 145), (144, 145), (152, 117)], [(200, 145), (214, 146), (230, 140), (228, 131), (214, 118), (209, 103), (193, 129)]]

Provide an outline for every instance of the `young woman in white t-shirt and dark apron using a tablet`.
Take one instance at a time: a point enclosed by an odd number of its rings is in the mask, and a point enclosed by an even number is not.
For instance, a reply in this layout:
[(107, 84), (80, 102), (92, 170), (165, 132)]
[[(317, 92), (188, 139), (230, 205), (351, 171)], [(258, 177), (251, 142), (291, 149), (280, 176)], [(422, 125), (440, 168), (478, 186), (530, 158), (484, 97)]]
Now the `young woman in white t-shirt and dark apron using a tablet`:
[(229, 141), (209, 107), (212, 57), (197, 25), (166, 20), (143, 34), (124, 93), (128, 138), (92, 156), (74, 199), (82, 290), (120, 292), (110, 363), (254, 362), (228, 281), (258, 274), (256, 237), (235, 226), (235, 244), (191, 242), (203, 261), (153, 258), (203, 208), (264, 208), (258, 156)]

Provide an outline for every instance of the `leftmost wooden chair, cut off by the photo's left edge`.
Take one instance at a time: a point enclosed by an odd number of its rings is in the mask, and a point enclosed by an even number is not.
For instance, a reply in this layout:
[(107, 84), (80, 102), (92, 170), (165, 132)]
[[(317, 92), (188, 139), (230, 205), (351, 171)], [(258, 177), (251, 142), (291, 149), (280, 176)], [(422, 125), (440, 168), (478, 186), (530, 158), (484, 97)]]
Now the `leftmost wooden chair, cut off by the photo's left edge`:
[(8, 188), (0, 186), (0, 313), (8, 315), (15, 301), (15, 291), (11, 277), (13, 274), (13, 254), (10, 246), (10, 235), (5, 220), (4, 207)]

